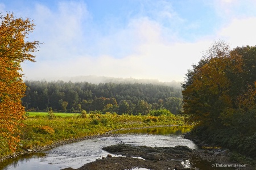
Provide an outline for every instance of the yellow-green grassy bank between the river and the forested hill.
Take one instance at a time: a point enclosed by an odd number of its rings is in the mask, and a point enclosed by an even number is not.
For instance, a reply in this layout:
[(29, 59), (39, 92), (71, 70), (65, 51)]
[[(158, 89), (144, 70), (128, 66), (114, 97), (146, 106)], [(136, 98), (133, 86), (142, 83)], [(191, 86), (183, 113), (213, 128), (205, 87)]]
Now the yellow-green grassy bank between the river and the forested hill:
[[(104, 134), (107, 131), (122, 128), (138, 128), (157, 125), (183, 125), (179, 116), (133, 116), (107, 114), (71, 114), (54, 113), (49, 119), (48, 113), (30, 112), (23, 122), (19, 151), (53, 145), (59, 141)], [(2, 149), (0, 156), (11, 154)]]

